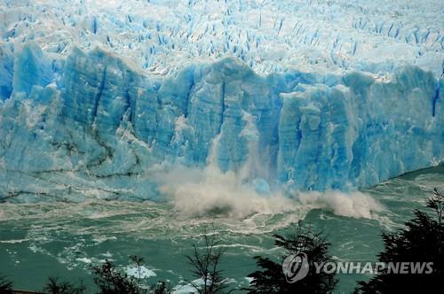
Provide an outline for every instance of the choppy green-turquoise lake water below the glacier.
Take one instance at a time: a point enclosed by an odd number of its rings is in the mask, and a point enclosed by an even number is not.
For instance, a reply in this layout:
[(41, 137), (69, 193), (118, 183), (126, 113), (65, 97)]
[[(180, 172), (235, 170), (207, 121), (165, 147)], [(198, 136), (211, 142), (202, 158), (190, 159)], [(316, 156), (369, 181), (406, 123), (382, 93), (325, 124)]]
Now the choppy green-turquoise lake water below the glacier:
[[(291, 231), (299, 219), (328, 234), (336, 259), (375, 261), (383, 248), (381, 232), (400, 228), (413, 216), (413, 209), (424, 207), (435, 187), (444, 190), (444, 166), (362, 190), (382, 207), (370, 218), (341, 216), (328, 206), (315, 209), (310, 205), (233, 218), (223, 213), (183, 217), (172, 203), (4, 203), (0, 204), (0, 275), (7, 275), (15, 288), (26, 290), (42, 290), (48, 275), (91, 285), (91, 265), (112, 259), (124, 270), (131, 267), (128, 256), (135, 254), (144, 257), (145, 267), (155, 274), (149, 282), (166, 279), (178, 292), (186, 291), (186, 281), (192, 277), (185, 256), (199, 242), (203, 228), (214, 223), (226, 246), (224, 273), (233, 287), (242, 288), (248, 285), (245, 277), (256, 269), (253, 257), (280, 256), (272, 235)], [(349, 293), (356, 280), (369, 276), (338, 278), (337, 293)]]

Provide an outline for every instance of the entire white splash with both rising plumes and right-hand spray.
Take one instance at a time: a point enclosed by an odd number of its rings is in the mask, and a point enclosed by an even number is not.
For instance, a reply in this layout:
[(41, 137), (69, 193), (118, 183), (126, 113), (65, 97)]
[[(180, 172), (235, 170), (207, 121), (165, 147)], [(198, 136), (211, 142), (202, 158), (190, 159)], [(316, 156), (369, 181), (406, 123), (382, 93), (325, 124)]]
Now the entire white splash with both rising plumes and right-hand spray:
[(212, 143), (204, 169), (175, 166), (159, 176), (161, 192), (170, 197), (178, 215), (185, 218), (224, 215), (244, 219), (257, 213), (299, 213), (325, 209), (338, 215), (372, 218), (383, 209), (377, 200), (361, 192), (339, 191), (289, 193), (270, 190), (258, 157), (258, 130), (249, 113), (243, 113), (241, 136), (248, 142), (249, 155), (237, 171), (218, 168), (220, 135)]

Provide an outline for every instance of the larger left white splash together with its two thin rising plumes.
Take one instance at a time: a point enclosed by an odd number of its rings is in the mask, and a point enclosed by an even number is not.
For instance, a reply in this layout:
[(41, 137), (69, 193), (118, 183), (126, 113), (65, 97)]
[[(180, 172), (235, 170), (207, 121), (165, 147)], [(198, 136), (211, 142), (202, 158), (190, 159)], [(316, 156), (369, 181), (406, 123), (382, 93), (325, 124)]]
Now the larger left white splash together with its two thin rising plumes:
[(249, 157), (238, 171), (222, 172), (218, 168), (218, 143), (220, 135), (213, 141), (207, 166), (203, 169), (175, 166), (157, 179), (160, 190), (171, 197), (175, 209), (182, 217), (224, 214), (231, 218), (243, 219), (256, 213), (286, 213), (297, 210), (293, 199), (275, 191), (269, 195), (258, 193), (252, 183), (259, 166), (257, 165), (256, 129), (244, 115), (246, 126), (242, 133), (250, 134)]

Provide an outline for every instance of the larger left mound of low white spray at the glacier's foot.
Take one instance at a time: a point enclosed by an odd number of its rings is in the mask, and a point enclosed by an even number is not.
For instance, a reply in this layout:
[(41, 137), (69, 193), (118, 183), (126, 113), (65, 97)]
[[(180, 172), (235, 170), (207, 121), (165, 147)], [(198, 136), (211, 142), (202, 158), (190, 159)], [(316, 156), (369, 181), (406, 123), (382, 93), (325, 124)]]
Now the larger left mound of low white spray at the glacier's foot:
[(276, 192), (264, 197), (242, 184), (234, 172), (222, 173), (215, 166), (203, 170), (178, 166), (163, 174), (161, 191), (169, 195), (183, 217), (224, 214), (243, 219), (256, 213), (285, 213), (297, 210), (294, 199)]

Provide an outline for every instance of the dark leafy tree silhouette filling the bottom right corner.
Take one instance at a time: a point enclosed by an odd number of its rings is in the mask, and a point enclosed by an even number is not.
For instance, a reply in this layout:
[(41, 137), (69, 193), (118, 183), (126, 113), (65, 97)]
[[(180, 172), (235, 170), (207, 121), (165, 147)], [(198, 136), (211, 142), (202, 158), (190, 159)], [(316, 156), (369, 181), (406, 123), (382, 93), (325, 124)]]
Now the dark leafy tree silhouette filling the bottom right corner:
[(415, 217), (394, 233), (384, 233), (381, 262), (432, 262), (431, 274), (390, 273), (386, 268), (369, 282), (358, 282), (355, 293), (435, 293), (444, 277), (444, 196), (438, 190), (428, 199), (433, 213), (415, 211)]

